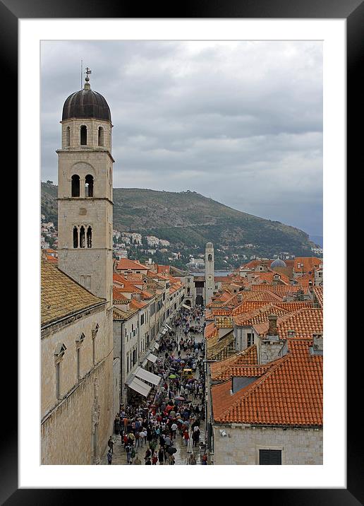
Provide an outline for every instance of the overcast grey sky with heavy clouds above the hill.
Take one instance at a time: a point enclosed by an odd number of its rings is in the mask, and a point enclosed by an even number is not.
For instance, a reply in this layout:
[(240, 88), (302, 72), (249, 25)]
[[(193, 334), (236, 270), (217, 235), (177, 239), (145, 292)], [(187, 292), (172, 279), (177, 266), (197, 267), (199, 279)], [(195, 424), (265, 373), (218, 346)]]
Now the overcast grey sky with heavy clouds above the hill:
[(111, 110), (115, 188), (190, 189), (322, 235), (322, 42), (42, 42), (43, 181), (81, 59)]

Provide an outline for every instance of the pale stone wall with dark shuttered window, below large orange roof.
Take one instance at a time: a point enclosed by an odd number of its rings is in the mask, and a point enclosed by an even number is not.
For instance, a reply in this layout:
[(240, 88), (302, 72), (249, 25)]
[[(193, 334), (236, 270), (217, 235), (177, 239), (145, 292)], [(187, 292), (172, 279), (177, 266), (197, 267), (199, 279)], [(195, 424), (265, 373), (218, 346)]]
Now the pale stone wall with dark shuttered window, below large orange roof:
[[(223, 437), (219, 430), (224, 430)], [(258, 465), (259, 449), (281, 449), (282, 464), (322, 465), (322, 429), (214, 425), (214, 464)]]

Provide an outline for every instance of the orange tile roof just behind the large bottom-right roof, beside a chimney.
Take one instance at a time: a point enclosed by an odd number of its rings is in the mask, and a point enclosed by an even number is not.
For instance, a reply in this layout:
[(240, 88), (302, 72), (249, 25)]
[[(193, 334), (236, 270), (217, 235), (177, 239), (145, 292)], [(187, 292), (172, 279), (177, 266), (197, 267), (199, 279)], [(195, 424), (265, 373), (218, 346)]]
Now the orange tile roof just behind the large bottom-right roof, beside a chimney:
[[(265, 336), (268, 322), (254, 325), (258, 334)], [(286, 339), (289, 330), (296, 331), (299, 338), (312, 338), (313, 334), (323, 332), (323, 312), (321, 308), (301, 309), (277, 319), (277, 332), (281, 339)]]

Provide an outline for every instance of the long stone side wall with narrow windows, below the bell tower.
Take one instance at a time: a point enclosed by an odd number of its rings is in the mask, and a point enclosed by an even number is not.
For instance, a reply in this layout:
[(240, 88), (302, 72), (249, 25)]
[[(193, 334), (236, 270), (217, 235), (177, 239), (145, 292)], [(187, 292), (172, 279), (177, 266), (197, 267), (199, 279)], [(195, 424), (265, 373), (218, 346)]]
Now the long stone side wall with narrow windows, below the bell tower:
[[(87, 314), (88, 313), (88, 314)], [(86, 311), (68, 324), (42, 330), (41, 340), (41, 454), (42, 464), (92, 464), (104, 452), (112, 433), (113, 343), (111, 314), (104, 305)], [(93, 360), (92, 329), (95, 336)], [(80, 334), (80, 377), (77, 347)], [(56, 398), (54, 351), (66, 346), (60, 363), (60, 396)], [(97, 452), (94, 452), (97, 425)], [(111, 431), (111, 432), (110, 432)]]

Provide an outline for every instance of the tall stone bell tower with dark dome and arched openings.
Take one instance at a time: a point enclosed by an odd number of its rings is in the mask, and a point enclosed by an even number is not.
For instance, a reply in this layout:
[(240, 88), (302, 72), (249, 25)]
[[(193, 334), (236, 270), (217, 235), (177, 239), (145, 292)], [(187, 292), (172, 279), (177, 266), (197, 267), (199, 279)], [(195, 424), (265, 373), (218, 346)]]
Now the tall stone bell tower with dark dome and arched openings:
[(59, 269), (112, 305), (111, 114), (85, 85), (64, 102), (58, 154)]

